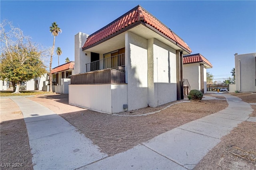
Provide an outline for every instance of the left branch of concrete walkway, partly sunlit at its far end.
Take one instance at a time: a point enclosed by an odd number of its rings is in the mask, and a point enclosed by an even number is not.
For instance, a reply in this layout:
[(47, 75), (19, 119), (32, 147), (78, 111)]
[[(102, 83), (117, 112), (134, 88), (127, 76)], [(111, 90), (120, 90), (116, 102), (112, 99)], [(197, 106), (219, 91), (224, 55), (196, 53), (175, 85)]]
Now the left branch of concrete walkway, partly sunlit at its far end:
[(11, 99), (26, 123), (34, 170), (73, 170), (108, 156), (50, 109), (24, 97)]

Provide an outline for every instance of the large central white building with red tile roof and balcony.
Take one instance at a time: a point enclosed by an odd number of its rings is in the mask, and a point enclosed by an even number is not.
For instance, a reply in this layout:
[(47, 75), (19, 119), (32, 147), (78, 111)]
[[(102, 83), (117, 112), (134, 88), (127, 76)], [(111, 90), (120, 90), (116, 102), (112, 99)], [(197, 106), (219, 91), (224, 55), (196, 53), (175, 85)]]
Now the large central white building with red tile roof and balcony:
[(178, 35), (136, 6), (91, 35), (75, 35), (69, 104), (116, 113), (180, 100), (182, 55), (190, 53)]

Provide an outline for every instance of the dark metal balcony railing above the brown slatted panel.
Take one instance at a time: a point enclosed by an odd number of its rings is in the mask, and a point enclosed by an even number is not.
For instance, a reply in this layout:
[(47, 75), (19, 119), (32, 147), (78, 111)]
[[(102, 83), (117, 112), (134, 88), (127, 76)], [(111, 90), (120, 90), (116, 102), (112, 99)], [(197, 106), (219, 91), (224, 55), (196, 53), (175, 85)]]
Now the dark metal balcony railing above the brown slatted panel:
[(108, 57), (106, 59), (93, 61), (91, 63), (85, 64), (86, 72), (103, 70), (106, 68), (119, 69), (119, 66), (125, 66), (125, 53)]

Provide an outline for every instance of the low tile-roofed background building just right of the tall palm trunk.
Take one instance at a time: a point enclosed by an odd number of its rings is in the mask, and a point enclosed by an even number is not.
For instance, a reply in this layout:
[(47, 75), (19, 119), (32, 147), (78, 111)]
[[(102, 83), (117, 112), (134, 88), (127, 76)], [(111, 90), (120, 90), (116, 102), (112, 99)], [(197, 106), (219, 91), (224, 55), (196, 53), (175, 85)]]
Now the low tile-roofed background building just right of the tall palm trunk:
[(52, 90), (60, 94), (68, 94), (70, 76), (74, 74), (74, 61), (62, 64), (52, 69)]

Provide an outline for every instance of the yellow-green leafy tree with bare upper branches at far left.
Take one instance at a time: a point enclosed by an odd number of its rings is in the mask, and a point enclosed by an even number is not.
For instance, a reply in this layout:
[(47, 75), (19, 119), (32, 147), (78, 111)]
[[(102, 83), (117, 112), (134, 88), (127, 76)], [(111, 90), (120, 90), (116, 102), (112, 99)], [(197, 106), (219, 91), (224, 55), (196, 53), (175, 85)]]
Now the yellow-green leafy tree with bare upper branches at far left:
[(20, 82), (45, 74), (44, 57), (49, 50), (40, 48), (23, 35), (21, 29), (4, 20), (0, 24), (1, 58), (0, 79), (12, 82), (19, 93)]

